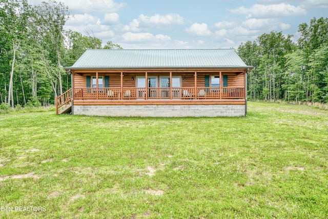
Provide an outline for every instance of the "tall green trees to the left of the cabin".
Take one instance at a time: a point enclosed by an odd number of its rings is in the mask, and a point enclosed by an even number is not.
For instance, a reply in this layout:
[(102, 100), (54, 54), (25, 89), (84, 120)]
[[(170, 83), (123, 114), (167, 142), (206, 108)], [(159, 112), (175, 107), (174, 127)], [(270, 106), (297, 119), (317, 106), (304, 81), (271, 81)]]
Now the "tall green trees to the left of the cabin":
[(0, 2), (0, 104), (53, 104), (71, 87), (64, 66), (73, 65), (87, 49), (122, 49), (111, 41), (103, 47), (92, 30), (85, 35), (64, 30), (70, 17), (60, 2)]

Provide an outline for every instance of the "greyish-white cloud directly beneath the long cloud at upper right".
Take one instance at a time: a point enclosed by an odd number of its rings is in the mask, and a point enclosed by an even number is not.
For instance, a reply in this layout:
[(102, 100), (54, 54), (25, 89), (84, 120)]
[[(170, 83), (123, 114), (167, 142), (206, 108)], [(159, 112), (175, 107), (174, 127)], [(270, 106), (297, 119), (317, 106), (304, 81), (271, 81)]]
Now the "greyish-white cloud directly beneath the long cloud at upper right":
[(251, 18), (247, 19), (242, 23), (243, 27), (246, 27), (251, 30), (287, 30), (291, 28), (290, 24), (284, 24), (278, 18), (269, 18), (269, 19), (256, 19)]

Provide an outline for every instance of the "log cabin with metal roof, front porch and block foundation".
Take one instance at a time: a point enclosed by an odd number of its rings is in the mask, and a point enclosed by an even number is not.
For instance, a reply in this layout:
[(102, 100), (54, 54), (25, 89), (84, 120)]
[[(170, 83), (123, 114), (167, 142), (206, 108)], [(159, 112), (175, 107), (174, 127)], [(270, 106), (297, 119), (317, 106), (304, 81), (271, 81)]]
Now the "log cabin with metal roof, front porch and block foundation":
[(233, 49), (87, 50), (66, 71), (56, 113), (108, 116), (247, 114), (247, 66)]

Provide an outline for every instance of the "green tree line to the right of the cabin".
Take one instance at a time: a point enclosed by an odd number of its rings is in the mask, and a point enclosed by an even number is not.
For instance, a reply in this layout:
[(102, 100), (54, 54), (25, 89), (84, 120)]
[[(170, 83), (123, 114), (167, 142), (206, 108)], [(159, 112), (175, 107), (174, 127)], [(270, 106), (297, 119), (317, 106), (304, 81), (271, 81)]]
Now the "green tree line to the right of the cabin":
[(240, 44), (237, 53), (254, 66), (248, 74), (249, 99), (328, 103), (328, 18), (298, 26), (300, 38), (264, 33)]

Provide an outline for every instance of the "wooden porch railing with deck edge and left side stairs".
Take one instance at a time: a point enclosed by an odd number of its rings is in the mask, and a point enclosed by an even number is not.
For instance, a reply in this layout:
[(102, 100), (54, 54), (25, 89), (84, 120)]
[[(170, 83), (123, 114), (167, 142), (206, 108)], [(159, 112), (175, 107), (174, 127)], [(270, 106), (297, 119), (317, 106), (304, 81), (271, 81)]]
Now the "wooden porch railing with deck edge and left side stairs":
[(74, 88), (56, 98), (56, 114), (60, 108), (74, 105), (245, 105), (242, 87), (180, 88)]

